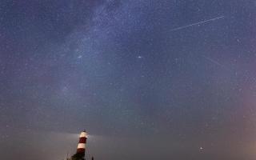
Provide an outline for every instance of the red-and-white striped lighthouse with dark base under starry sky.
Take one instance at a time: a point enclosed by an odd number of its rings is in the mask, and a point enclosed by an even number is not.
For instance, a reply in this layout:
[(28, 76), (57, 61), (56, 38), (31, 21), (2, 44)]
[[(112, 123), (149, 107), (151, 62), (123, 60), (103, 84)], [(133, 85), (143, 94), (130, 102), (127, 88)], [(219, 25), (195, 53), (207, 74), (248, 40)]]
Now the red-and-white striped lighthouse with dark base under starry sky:
[(88, 136), (86, 130), (83, 130), (79, 136), (77, 153), (72, 156), (72, 160), (84, 160), (86, 154), (86, 140)]

